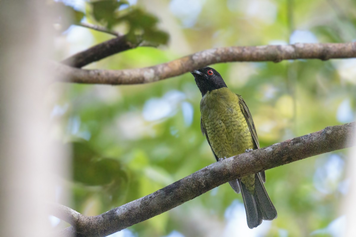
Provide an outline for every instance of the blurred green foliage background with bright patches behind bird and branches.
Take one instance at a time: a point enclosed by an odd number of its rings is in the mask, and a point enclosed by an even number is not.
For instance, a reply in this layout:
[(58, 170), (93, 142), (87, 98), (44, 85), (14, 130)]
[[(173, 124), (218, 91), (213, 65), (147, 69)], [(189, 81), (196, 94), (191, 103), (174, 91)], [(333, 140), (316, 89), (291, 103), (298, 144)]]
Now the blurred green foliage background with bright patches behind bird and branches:
[[(152, 66), (213, 47), (356, 39), (355, 0), (130, 0), (97, 8), (103, 16), (95, 16), (89, 2), (63, 2), (83, 12), (77, 20), (121, 33), (135, 34), (141, 23), (117, 20), (122, 12), (141, 9), (157, 17), (148, 26), (154, 30), (143, 31), (158, 48), (128, 50), (88, 69)], [(170, 37), (166, 45), (163, 32)], [(57, 60), (110, 38), (72, 25), (55, 39)], [(261, 147), (354, 120), (356, 59), (212, 66), (245, 99)], [(72, 145), (73, 158), (72, 177), (58, 197), (72, 192), (69, 206), (84, 215), (141, 198), (215, 161), (200, 131), (201, 94), (189, 73), (145, 85), (58, 83), (51, 90), (63, 91), (51, 114), (63, 124), (53, 134)], [(346, 157), (340, 150), (267, 170), (265, 186), (278, 217), (253, 230), (241, 195), (224, 184), (112, 236), (343, 236)]]

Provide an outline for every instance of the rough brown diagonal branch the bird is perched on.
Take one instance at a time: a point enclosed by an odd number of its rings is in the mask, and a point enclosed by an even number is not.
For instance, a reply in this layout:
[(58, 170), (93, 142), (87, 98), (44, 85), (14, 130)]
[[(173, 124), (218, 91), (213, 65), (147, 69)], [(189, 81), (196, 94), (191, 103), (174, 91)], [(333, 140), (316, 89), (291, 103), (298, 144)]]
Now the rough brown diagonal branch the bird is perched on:
[[(330, 126), (312, 134), (227, 158), (101, 215), (71, 218), (78, 222), (61, 233), (64, 236), (71, 233), (75, 233), (75, 236), (110, 235), (168, 211), (232, 179), (350, 147), (354, 145), (355, 129), (355, 122)], [(72, 212), (67, 209), (65, 211), (68, 214)], [(77, 215), (78, 212), (73, 213)]]

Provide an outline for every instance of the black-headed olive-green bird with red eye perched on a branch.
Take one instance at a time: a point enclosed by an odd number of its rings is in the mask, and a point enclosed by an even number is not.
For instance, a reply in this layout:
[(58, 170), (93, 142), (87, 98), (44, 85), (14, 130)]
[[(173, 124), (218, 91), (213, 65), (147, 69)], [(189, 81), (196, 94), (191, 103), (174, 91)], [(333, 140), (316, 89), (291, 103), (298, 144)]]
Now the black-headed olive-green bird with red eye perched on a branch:
[[(201, 92), (200, 128), (214, 153), (216, 161), (259, 149), (255, 124), (240, 95), (227, 88), (223, 77), (213, 68), (205, 67), (190, 72)], [(247, 225), (255, 228), (262, 220), (277, 217), (276, 208), (263, 183), (265, 172), (229, 181), (236, 193), (242, 194)]]

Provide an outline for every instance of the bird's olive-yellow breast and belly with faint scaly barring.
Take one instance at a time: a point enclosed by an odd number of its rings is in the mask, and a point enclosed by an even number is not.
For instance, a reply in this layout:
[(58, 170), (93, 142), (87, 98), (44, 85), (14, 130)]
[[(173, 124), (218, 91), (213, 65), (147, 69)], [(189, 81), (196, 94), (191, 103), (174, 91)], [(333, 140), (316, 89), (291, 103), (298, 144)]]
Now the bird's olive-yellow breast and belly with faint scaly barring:
[(253, 149), (253, 138), (241, 111), (239, 98), (228, 88), (206, 93), (200, 102), (200, 112), (211, 148), (218, 158)]

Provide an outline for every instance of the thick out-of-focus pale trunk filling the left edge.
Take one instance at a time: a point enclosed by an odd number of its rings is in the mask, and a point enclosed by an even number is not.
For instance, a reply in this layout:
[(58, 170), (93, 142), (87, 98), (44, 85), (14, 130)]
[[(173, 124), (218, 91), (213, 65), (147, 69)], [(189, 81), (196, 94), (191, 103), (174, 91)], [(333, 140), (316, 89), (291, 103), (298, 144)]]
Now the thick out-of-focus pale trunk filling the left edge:
[(66, 164), (49, 136), (53, 32), (45, 2), (0, 1), (0, 236), (51, 236), (46, 207)]

